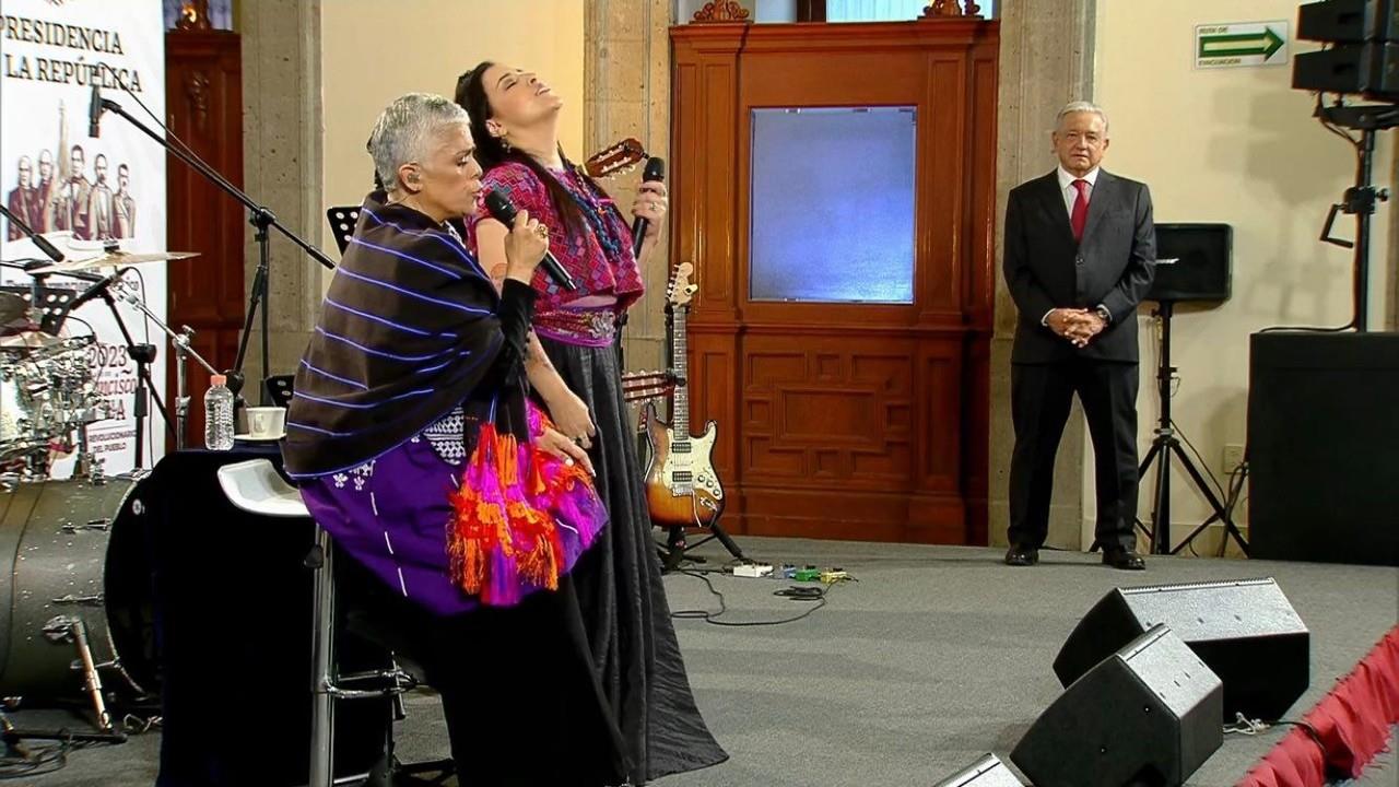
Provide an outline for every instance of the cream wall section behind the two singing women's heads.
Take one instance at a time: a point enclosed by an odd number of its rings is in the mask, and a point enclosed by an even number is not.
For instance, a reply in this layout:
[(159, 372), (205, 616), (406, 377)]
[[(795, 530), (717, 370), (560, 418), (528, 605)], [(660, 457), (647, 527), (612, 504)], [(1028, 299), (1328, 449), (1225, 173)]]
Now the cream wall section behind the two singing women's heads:
[[(374, 164), (364, 143), (390, 101), (411, 91), (450, 98), (457, 76), (481, 60), (537, 71), (565, 101), (564, 150), (586, 158), (583, 6), (581, 0), (322, 3), (326, 207), (360, 204), (371, 189)], [(330, 238), (326, 252), (339, 259)]]

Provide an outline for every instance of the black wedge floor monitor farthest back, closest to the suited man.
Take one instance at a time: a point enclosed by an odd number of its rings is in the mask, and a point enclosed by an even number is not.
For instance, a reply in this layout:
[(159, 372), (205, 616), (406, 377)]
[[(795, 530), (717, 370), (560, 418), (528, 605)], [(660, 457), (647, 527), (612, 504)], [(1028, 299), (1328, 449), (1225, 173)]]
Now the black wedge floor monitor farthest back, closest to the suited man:
[(1224, 682), (1224, 716), (1281, 718), (1311, 683), (1311, 633), (1272, 578), (1116, 588), (1053, 660), (1067, 686), (1114, 650), (1165, 625)]

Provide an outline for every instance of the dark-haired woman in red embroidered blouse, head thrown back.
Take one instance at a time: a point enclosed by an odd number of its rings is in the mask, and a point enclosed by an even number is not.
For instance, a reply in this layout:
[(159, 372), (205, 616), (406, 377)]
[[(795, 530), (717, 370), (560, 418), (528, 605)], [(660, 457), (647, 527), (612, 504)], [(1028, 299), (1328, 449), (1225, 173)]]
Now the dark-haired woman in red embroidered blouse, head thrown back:
[[(639, 259), (617, 204), (558, 146), (562, 101), (533, 73), (485, 62), (462, 74), (456, 102), (471, 118), (483, 190), (499, 189), (548, 227), (550, 251), (578, 283), (533, 279), (537, 308), (525, 370), (558, 430), (588, 450), (610, 525), (574, 570), (597, 689), (642, 784), (727, 759), (695, 707), (660, 581), (642, 494), (635, 430), (621, 395), (617, 323), (642, 294), (666, 188), (642, 183), (632, 216), (648, 220)], [(470, 234), (498, 276), (506, 227), (478, 211)]]

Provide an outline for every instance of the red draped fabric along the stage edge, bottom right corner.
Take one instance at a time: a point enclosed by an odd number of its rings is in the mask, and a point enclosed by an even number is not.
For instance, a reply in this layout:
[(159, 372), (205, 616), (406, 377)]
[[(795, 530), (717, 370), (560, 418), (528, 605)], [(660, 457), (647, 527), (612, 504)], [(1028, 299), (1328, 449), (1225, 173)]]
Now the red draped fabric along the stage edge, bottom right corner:
[(1304, 718), (1321, 745), (1294, 728), (1259, 760), (1238, 787), (1323, 787), (1328, 774), (1356, 779), (1389, 742), (1399, 724), (1399, 626)]

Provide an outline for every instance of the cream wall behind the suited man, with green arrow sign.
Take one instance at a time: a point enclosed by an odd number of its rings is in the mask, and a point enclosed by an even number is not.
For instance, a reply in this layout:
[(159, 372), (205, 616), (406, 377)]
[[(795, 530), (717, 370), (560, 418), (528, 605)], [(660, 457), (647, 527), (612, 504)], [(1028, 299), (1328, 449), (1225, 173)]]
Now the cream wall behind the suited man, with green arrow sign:
[[(1172, 417), (1223, 480), (1226, 444), (1247, 440), (1249, 333), (1269, 325), (1342, 325), (1351, 316), (1351, 252), (1318, 242), (1328, 207), (1353, 183), (1351, 147), (1312, 118), (1314, 97), (1291, 90), (1291, 63), (1193, 69), (1200, 24), (1286, 20), (1295, 34), (1297, 0), (1100, 0), (1095, 95), (1111, 118), (1104, 167), (1147, 182), (1157, 221), (1223, 221), (1234, 227), (1234, 295), (1213, 308), (1179, 308), (1172, 361), (1179, 388)], [(1290, 41), (1298, 50), (1315, 49)], [(1049, 123), (1046, 122), (1046, 126)], [(1393, 132), (1385, 132), (1375, 176), (1392, 179)], [(1048, 134), (1045, 140), (1048, 151)], [(1045, 168), (1052, 167), (1046, 153)], [(1381, 183), (1389, 185), (1392, 182)], [(1391, 206), (1375, 216), (1370, 325), (1382, 326)], [(1337, 221), (1354, 235), (1354, 220)], [(1139, 445), (1153, 437), (1156, 332), (1143, 322)], [(1093, 532), (1091, 448), (1084, 492), (1084, 543)], [(1151, 478), (1142, 483), (1150, 513)], [(1202, 522), (1209, 507), (1185, 473), (1172, 476), (1172, 536)], [(1247, 510), (1245, 510), (1247, 517)]]

